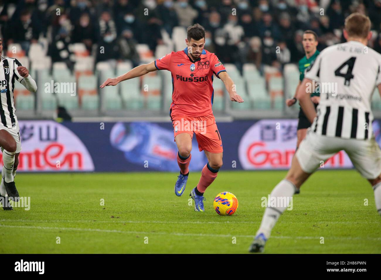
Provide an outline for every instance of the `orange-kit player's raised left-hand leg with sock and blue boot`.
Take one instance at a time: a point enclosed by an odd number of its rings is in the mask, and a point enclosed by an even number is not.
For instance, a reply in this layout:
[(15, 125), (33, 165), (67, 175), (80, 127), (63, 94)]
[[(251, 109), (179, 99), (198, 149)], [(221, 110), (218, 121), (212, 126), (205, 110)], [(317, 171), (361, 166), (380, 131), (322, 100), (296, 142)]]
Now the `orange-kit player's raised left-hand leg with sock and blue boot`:
[(176, 184), (174, 184), (174, 193), (179, 197), (184, 193), (188, 180), (189, 163), (192, 158), (192, 137), (189, 133), (180, 133), (174, 139), (179, 149), (177, 163), (180, 167), (180, 174), (177, 176)]

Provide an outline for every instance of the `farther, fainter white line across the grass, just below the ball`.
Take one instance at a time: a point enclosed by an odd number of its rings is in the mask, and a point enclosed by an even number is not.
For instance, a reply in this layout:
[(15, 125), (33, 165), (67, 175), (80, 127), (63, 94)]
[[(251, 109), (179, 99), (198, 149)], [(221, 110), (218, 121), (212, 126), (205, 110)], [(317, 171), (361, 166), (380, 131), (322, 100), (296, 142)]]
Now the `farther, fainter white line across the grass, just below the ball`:
[[(118, 218), (113, 218), (110, 221), (94, 221), (94, 220), (78, 220), (78, 221), (69, 221), (69, 220), (8, 220), (1, 219), (0, 222), (108, 222), (108, 223), (130, 223), (130, 224), (259, 224), (258, 222), (202, 222), (202, 221), (118, 221)], [(301, 222), (288, 222), (288, 221), (280, 221), (280, 223), (285, 224), (300, 224)], [(311, 222), (311, 224), (378, 224), (379, 222)]]

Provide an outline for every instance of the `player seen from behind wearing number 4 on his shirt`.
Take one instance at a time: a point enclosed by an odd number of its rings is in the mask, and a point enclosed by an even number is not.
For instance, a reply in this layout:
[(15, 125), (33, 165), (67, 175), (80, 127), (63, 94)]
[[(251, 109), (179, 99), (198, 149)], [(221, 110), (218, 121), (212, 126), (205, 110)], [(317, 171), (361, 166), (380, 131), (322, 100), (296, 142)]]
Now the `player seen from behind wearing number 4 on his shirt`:
[[(312, 125), (286, 178), (271, 192), (277, 202), (290, 200), (321, 162), (344, 150), (373, 186), (376, 208), (381, 214), (381, 150), (372, 131), (371, 112), (375, 86), (381, 94), (381, 54), (367, 47), (372, 35), (370, 24), (363, 14), (348, 16), (344, 29), (347, 42), (325, 48), (307, 69), (297, 99)], [(320, 82), (317, 113), (307, 90), (313, 81)], [(329, 84), (336, 90), (328, 91)], [(266, 208), (250, 252), (264, 250), (272, 228), (286, 208), (287, 205)]]

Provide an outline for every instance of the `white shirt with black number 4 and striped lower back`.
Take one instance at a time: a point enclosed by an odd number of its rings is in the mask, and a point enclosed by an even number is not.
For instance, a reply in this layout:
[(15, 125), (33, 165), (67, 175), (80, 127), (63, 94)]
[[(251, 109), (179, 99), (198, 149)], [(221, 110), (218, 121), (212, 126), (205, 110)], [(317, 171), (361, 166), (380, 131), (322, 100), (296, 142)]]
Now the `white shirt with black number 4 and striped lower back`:
[(344, 139), (370, 139), (371, 96), (381, 84), (381, 54), (357, 41), (324, 49), (306, 70), (319, 83), (320, 102), (311, 130)]

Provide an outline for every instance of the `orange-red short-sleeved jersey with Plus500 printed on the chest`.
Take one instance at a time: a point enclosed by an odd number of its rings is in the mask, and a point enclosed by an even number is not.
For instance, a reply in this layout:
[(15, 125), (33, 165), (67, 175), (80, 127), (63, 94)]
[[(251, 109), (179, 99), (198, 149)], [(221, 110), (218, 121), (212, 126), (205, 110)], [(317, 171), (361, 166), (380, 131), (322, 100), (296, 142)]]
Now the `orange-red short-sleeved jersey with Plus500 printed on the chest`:
[(170, 115), (207, 116), (213, 113), (213, 74), (218, 77), (226, 69), (214, 53), (203, 50), (200, 57), (192, 61), (187, 51), (187, 48), (173, 51), (155, 60), (158, 70), (172, 74)]

